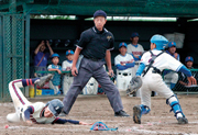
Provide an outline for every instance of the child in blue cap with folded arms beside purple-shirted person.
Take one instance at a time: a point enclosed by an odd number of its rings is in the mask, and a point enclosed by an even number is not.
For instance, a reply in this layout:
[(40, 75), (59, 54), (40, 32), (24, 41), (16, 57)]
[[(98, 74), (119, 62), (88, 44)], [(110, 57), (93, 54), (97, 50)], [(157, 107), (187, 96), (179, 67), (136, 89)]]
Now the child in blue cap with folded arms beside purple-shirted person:
[(54, 74), (54, 77), (50, 81), (50, 88), (54, 89), (54, 94), (58, 94), (59, 92), (59, 85), (61, 85), (61, 74), (62, 74), (62, 67), (58, 65), (59, 63), (59, 55), (53, 54), (52, 55), (52, 65), (47, 67), (48, 71), (56, 71)]

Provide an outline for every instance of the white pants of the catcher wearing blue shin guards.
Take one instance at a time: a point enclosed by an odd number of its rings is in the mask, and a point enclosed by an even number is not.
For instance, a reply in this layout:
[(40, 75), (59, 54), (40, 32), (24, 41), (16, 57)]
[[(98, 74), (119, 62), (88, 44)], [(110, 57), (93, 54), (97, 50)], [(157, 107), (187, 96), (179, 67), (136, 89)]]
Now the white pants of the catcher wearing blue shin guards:
[(160, 95), (168, 99), (174, 93), (173, 91), (165, 85), (163, 78), (158, 74), (152, 72), (153, 68), (151, 68), (147, 74), (142, 77), (143, 85), (140, 89), (141, 93), (141, 103), (147, 105), (151, 109), (151, 92), (155, 91)]

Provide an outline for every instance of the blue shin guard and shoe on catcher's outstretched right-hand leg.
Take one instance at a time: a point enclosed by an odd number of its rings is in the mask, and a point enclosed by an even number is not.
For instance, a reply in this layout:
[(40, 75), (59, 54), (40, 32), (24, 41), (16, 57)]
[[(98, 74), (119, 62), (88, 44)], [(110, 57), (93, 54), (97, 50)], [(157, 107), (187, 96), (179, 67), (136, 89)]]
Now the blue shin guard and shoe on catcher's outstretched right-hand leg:
[(172, 95), (166, 100), (166, 103), (170, 105), (170, 111), (175, 113), (175, 117), (178, 121), (178, 124), (187, 124), (188, 120), (185, 117), (183, 110), (180, 108), (179, 101), (176, 95)]

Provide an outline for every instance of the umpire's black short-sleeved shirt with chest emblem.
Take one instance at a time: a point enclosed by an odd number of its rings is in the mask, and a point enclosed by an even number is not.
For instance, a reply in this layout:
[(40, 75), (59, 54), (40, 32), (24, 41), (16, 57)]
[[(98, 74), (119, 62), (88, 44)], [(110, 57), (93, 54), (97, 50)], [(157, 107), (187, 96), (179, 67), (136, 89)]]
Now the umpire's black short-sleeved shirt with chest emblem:
[(86, 58), (103, 59), (106, 50), (113, 49), (114, 37), (111, 32), (103, 29), (98, 31), (95, 26), (84, 31), (77, 45)]

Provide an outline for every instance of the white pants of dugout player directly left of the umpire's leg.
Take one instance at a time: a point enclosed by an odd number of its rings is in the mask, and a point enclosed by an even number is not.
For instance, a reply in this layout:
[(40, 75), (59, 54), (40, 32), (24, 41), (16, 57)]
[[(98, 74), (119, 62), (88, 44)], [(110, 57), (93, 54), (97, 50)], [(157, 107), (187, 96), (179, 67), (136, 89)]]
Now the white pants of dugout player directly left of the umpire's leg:
[(64, 92), (64, 94), (66, 94), (67, 91), (69, 90), (70, 85), (73, 83), (73, 80), (74, 80), (74, 77), (69, 77), (67, 75), (64, 76), (64, 79), (63, 79), (63, 92)]

